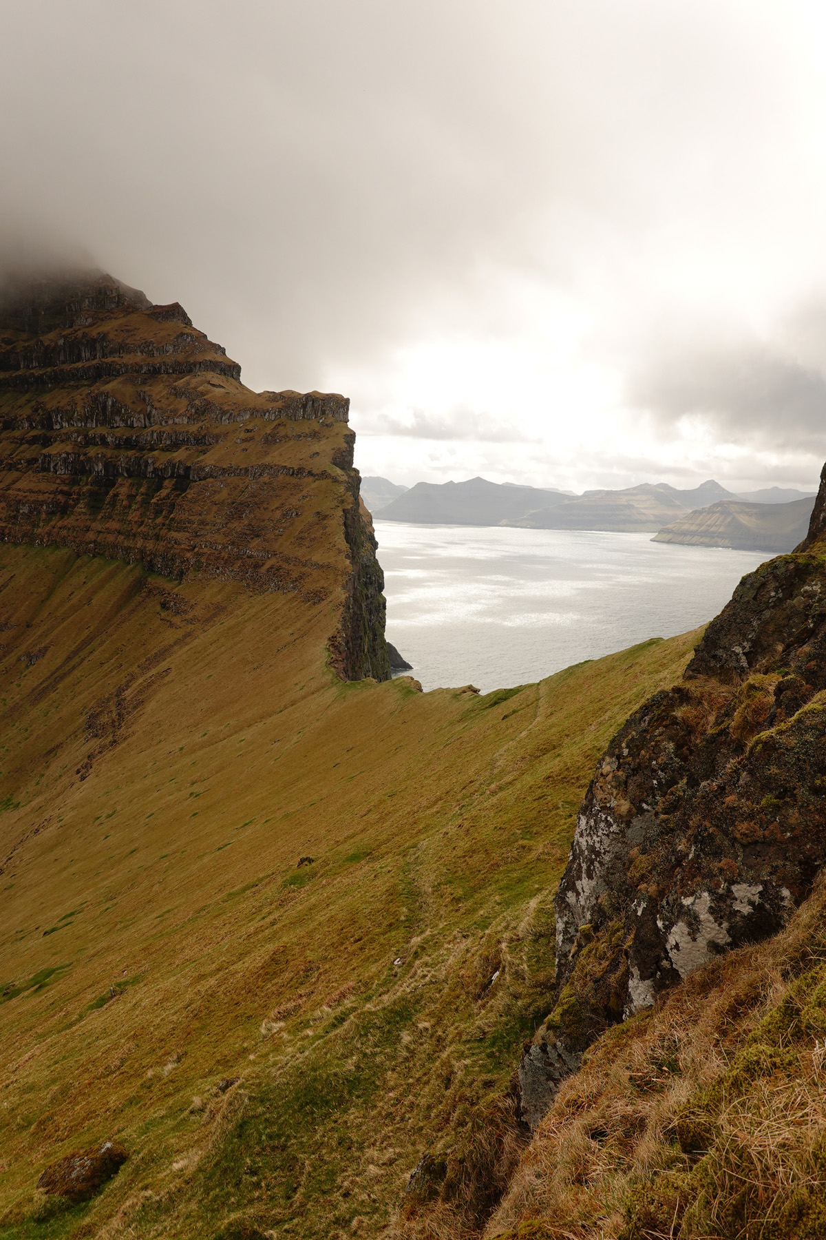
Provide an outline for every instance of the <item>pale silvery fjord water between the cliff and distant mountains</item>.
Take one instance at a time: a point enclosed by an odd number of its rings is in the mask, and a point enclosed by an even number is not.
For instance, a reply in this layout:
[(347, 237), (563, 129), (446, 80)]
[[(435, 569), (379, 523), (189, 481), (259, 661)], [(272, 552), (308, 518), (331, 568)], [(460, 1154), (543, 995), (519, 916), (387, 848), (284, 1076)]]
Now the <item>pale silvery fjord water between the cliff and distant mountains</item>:
[(424, 689), (537, 681), (724, 606), (760, 552), (654, 543), (648, 533), (375, 521), (388, 639)]

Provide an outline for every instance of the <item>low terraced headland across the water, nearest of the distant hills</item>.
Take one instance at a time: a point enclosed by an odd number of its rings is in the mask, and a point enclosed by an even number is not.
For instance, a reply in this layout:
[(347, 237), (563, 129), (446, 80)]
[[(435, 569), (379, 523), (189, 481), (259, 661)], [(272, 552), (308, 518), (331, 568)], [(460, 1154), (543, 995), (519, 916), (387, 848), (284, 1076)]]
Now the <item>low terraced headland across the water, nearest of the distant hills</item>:
[(774, 553), (791, 551), (806, 533), (814, 502), (814, 498), (791, 503), (723, 500), (680, 517), (660, 529), (653, 542)]

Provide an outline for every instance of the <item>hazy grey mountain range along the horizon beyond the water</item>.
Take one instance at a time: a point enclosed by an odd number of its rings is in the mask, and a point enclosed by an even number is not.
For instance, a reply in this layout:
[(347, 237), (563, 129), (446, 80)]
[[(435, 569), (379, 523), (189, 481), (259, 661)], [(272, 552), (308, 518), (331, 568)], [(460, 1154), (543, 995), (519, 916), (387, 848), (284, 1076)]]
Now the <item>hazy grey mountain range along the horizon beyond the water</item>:
[[(383, 521), (653, 533), (659, 542), (790, 551), (805, 536), (814, 492), (768, 487), (734, 495), (710, 479), (690, 490), (643, 482), (620, 491), (570, 491), (472, 477), (402, 487), (365, 477), (362, 495)], [(700, 513), (708, 516), (700, 517)]]

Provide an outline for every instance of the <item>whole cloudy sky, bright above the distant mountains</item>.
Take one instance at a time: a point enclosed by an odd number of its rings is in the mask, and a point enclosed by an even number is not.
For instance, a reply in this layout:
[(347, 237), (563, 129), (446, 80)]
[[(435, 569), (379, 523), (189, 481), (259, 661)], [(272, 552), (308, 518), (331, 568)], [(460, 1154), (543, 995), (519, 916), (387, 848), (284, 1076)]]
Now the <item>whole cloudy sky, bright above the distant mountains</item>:
[(822, 0), (0, 0), (0, 262), (181, 301), (357, 465), (814, 490)]

